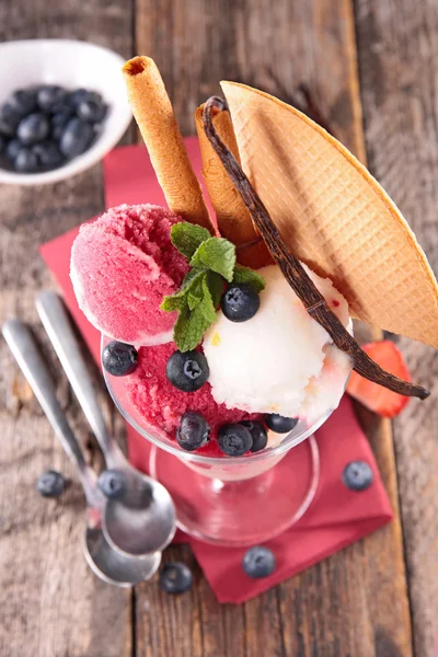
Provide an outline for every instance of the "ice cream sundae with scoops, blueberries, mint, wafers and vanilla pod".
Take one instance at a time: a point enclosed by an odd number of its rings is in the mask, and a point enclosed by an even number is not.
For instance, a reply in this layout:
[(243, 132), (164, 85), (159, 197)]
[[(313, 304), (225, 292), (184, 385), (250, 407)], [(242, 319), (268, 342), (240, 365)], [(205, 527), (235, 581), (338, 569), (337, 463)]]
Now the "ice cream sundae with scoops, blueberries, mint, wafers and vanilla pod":
[(229, 107), (214, 97), (195, 116), (214, 220), (155, 65), (136, 57), (124, 76), (169, 209), (119, 206), (81, 227), (71, 279), (143, 427), (251, 458), (333, 411), (351, 369), (425, 399), (353, 336), (350, 315), (438, 346), (434, 275), (353, 155), (292, 107), (224, 83)]

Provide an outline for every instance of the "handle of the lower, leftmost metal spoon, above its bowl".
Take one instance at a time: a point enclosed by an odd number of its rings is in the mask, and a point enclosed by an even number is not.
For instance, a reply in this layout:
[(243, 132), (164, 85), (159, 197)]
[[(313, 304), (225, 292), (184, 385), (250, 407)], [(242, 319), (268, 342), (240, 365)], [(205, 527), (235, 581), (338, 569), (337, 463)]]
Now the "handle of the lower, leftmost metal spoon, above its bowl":
[(31, 330), (19, 320), (9, 320), (3, 324), (2, 333), (56, 436), (77, 466), (87, 502), (93, 506), (97, 497), (96, 475), (88, 465), (82, 449), (58, 403), (53, 379)]

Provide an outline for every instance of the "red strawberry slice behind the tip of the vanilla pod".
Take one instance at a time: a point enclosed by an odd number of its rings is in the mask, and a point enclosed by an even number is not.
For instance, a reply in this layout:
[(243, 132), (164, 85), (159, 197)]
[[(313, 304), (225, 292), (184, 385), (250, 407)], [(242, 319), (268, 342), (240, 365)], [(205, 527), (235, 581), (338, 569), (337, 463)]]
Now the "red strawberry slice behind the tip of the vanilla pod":
[[(407, 371), (403, 356), (392, 342), (384, 339), (369, 343), (362, 345), (362, 349), (388, 372), (405, 381), (411, 381), (411, 374)], [(355, 371), (351, 372), (349, 378), (347, 392), (361, 402), (364, 406), (383, 417), (399, 415), (408, 402), (408, 397), (368, 381)]]

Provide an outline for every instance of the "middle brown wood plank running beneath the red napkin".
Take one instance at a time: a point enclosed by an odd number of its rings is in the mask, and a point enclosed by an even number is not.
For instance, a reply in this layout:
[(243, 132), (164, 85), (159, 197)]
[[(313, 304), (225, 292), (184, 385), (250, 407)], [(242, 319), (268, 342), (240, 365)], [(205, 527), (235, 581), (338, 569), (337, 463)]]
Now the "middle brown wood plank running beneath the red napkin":
[[(207, 96), (220, 92), (220, 79), (246, 82), (286, 101), (306, 82), (336, 136), (365, 161), (349, 0), (254, 0), (251, 5), (231, 0), (197, 0), (189, 5), (181, 0), (137, 0), (136, 34), (137, 50), (152, 56), (163, 73), (184, 134), (194, 131), (193, 110)], [(362, 414), (361, 419), (396, 512), (391, 427), (370, 414)], [(150, 583), (137, 591), (140, 604), (155, 586)], [(261, 646), (263, 654), (269, 656), (412, 654), (397, 517), (391, 527), (238, 610), (220, 607), (203, 587), (204, 584), (197, 584), (201, 643), (192, 644), (192, 653), (186, 644), (174, 645), (175, 657), (252, 657), (260, 654)], [(185, 600), (186, 618), (194, 613), (197, 629), (199, 616), (193, 595)], [(154, 616), (154, 622), (159, 618)], [(143, 634), (157, 632), (151, 618), (141, 612), (137, 614), (137, 627)], [(168, 655), (159, 644), (155, 650), (157, 657)], [(139, 646), (139, 657), (150, 654), (145, 644)]]

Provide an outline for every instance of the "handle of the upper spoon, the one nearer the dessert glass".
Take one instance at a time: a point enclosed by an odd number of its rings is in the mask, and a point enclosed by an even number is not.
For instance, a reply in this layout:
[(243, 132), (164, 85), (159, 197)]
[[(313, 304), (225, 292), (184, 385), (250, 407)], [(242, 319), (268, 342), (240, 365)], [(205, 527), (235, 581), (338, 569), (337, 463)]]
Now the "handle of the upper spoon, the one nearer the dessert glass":
[(46, 290), (37, 297), (36, 310), (79, 404), (97, 438), (106, 465), (117, 466), (125, 458), (106, 428), (85, 360), (62, 299), (54, 290)]

